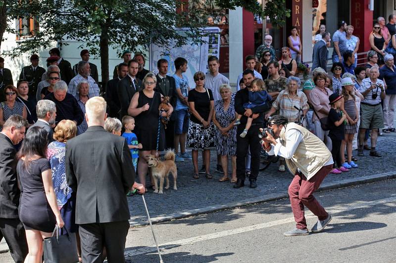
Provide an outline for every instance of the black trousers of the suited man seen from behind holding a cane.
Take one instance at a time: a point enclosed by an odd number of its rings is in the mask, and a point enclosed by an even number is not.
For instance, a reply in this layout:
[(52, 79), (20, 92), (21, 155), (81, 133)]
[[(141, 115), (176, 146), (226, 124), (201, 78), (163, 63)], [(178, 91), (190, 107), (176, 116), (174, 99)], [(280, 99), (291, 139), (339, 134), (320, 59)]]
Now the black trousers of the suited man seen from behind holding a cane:
[(103, 247), (106, 247), (108, 263), (125, 263), (128, 229), (127, 220), (79, 225), (83, 262), (103, 263)]

